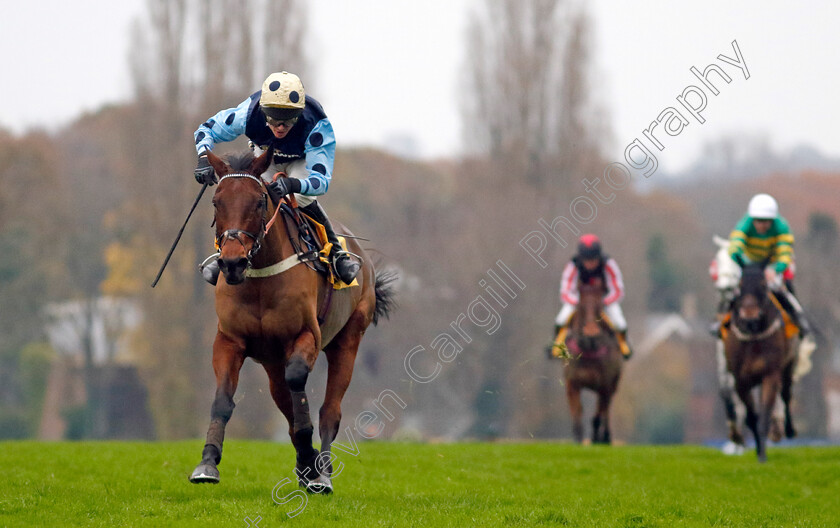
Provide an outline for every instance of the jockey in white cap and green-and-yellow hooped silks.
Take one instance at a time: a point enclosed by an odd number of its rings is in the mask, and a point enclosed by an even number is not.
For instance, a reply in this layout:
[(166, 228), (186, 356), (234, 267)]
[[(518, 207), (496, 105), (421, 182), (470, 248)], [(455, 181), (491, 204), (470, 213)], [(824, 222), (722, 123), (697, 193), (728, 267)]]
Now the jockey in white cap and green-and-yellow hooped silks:
[(752, 262), (770, 263), (764, 273), (767, 285), (793, 318), (801, 336), (806, 337), (811, 326), (793, 295), (793, 233), (779, 216), (779, 205), (772, 196), (752, 197), (746, 216), (729, 235), (729, 256), (741, 267)]

